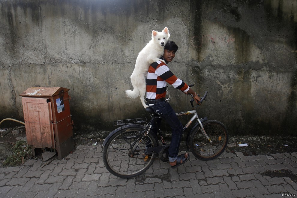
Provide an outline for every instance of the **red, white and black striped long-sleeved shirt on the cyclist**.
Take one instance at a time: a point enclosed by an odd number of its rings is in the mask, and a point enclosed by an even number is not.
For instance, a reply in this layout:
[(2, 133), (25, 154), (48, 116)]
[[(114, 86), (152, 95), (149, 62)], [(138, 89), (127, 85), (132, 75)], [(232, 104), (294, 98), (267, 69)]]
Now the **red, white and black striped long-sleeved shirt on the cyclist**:
[(184, 92), (190, 88), (177, 78), (164, 62), (156, 61), (149, 66), (146, 76), (146, 100), (164, 98), (166, 96), (166, 82)]

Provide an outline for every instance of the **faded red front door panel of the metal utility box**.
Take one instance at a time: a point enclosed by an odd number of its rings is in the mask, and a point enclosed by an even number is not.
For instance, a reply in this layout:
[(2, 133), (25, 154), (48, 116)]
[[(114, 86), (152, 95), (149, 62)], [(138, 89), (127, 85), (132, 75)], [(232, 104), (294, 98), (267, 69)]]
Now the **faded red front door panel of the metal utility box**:
[(22, 97), (22, 105), (28, 144), (36, 148), (55, 148), (50, 99)]

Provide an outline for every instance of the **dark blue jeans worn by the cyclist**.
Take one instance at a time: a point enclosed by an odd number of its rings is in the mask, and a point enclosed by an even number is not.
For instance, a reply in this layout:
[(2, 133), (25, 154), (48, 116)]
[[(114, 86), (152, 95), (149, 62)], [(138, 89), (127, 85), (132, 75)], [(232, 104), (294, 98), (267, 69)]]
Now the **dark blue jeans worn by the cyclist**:
[[(177, 159), (177, 155), (179, 153), (179, 145), (182, 140), (182, 133), (183, 133), (183, 126), (182, 123), (177, 118), (175, 111), (172, 109), (170, 104), (168, 102), (163, 101), (159, 102), (157, 104), (154, 104), (150, 106), (155, 113), (157, 113), (159, 116), (162, 116), (162, 118), (165, 120), (165, 122), (170, 125), (172, 128), (172, 137), (171, 137), (171, 143), (169, 146), (169, 161), (174, 162)], [(160, 126), (161, 120), (158, 120), (157, 123), (152, 123), (152, 132), (157, 134), (158, 128)]]

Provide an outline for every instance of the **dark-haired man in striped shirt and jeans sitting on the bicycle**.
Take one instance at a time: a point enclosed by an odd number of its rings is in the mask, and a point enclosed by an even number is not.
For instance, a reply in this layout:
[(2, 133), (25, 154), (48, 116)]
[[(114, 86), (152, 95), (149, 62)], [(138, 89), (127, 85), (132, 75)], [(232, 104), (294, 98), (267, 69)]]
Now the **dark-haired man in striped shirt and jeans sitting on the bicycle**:
[[(175, 53), (179, 47), (173, 41), (167, 41), (164, 47), (164, 54), (161, 57), (166, 63), (156, 61), (149, 67), (146, 77), (146, 101), (147, 105), (161, 116), (165, 122), (172, 128), (171, 143), (168, 149), (169, 163), (172, 168), (176, 168), (184, 164), (190, 156), (188, 153), (178, 156), (179, 146), (182, 140), (183, 126), (177, 118), (175, 111), (170, 104), (165, 101), (166, 85), (169, 83), (174, 88), (180, 89), (185, 94), (191, 94), (198, 104), (199, 96), (186, 83), (177, 78), (167, 67), (167, 64), (173, 60)], [(152, 123), (151, 131), (157, 134), (160, 121)]]

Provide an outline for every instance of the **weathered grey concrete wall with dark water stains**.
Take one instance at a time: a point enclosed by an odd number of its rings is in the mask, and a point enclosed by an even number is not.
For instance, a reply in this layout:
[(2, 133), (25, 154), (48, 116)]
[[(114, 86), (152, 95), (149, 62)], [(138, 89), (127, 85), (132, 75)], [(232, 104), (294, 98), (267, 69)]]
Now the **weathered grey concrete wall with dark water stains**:
[(167, 26), (179, 45), (169, 67), (209, 92), (202, 117), (230, 134), (296, 134), (296, 23), (296, 0), (0, 0), (0, 120), (23, 119), (19, 94), (32, 86), (69, 88), (78, 127), (145, 116), (124, 91), (152, 30)]

